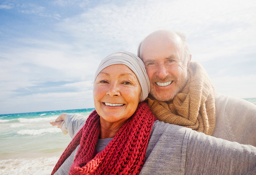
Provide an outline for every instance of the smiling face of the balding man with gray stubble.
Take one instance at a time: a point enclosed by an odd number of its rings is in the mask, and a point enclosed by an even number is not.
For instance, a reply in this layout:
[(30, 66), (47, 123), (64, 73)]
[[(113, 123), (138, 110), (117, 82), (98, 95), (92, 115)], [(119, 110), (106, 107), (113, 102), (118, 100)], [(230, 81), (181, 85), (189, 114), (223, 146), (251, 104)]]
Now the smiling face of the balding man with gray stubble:
[(140, 55), (150, 80), (150, 94), (156, 100), (170, 101), (181, 92), (187, 82), (187, 63), (178, 41), (145, 39)]

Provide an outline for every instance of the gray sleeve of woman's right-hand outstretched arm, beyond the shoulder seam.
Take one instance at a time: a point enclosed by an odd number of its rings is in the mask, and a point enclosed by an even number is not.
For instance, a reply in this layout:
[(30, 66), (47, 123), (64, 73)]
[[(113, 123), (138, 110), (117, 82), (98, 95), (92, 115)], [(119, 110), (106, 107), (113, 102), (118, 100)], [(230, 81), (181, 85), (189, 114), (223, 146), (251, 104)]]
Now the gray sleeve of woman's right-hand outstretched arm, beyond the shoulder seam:
[(256, 148), (191, 131), (187, 174), (256, 174)]

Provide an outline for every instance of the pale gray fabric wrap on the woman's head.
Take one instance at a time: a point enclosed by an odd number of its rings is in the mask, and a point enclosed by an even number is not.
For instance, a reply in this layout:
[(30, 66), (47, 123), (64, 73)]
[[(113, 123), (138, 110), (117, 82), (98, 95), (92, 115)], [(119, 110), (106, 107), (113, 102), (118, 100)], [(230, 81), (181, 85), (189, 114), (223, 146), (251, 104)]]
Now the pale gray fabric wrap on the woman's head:
[(148, 79), (148, 75), (147, 75), (143, 61), (139, 57), (137, 57), (137, 55), (131, 52), (118, 51), (118, 52), (111, 53), (110, 55), (105, 57), (101, 61), (98, 69), (96, 70), (96, 73), (94, 76), (94, 82), (98, 74), (103, 69), (114, 64), (124, 64), (133, 71), (141, 87), (139, 102), (144, 101), (148, 97), (148, 93), (150, 92), (150, 81)]

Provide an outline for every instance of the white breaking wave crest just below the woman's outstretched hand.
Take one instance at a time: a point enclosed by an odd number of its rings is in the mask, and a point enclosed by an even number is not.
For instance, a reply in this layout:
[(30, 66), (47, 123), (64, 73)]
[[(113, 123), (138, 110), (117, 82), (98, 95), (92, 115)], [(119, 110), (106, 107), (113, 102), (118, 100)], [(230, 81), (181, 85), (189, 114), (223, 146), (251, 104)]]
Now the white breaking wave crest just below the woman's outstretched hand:
[(57, 133), (61, 132), (61, 129), (59, 128), (44, 128), (44, 129), (39, 129), (39, 130), (20, 130), (17, 132), (19, 135), (41, 135), (41, 134), (46, 134), (46, 133)]

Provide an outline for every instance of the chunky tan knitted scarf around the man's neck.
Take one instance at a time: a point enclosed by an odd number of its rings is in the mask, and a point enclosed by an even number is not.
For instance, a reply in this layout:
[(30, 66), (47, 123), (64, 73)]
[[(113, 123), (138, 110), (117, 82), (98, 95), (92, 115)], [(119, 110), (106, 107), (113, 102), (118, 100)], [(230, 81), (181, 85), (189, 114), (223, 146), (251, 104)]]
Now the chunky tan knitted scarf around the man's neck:
[(190, 62), (188, 81), (182, 92), (170, 102), (146, 98), (150, 110), (158, 120), (185, 126), (211, 135), (215, 125), (215, 88), (197, 62)]

